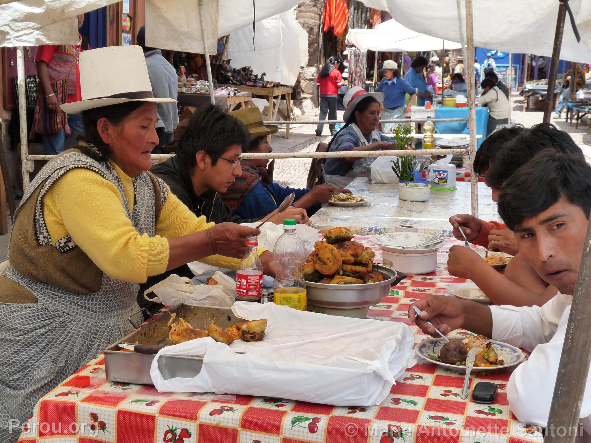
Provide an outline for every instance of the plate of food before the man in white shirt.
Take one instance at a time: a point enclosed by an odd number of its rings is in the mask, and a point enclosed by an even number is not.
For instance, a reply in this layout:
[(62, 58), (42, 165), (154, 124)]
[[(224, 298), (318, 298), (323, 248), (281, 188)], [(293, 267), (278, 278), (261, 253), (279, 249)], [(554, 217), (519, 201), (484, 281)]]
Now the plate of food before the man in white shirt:
[(472, 348), (478, 349), (473, 371), (492, 371), (515, 366), (525, 360), (525, 354), (518, 347), (490, 340), (482, 335), (449, 342), (441, 338), (430, 338), (415, 346), (417, 356), (456, 372), (466, 372), (466, 356)]

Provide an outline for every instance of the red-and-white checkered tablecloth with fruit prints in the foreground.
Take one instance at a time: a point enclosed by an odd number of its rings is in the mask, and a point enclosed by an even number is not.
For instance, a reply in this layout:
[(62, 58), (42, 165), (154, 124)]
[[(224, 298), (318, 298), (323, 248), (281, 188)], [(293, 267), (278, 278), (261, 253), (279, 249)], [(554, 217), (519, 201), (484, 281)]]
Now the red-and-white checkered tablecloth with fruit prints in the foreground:
[[(356, 240), (376, 250), (371, 237)], [(436, 272), (411, 276), (394, 286), (389, 297), (370, 308), (368, 317), (402, 321), (426, 338), (407, 318), (411, 303), (427, 294), (446, 294), (446, 286), (464, 282), (446, 272), (449, 239), (440, 250)], [(459, 337), (469, 334), (456, 331)], [(35, 406), (20, 442), (47, 443), (517, 443), (541, 442), (541, 429), (522, 424), (509, 411), (509, 372), (476, 373), (479, 381), (499, 386), (495, 403), (482, 405), (459, 398), (463, 375), (433, 363), (408, 369), (381, 405), (340, 407), (287, 399), (236, 395), (226, 401), (209, 394), (158, 393), (153, 386), (105, 380), (103, 356), (77, 374), (90, 376), (86, 388), (73, 377), (51, 390)], [(302, 385), (302, 389), (306, 389)]]

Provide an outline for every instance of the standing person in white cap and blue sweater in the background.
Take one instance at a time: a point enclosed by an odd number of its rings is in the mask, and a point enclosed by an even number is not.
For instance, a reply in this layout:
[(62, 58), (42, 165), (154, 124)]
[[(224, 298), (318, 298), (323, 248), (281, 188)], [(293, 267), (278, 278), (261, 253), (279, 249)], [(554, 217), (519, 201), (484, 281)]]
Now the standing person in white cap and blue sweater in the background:
[[(382, 69), (379, 71), (384, 73), (384, 78), (379, 82), (375, 90), (384, 93), (382, 120), (403, 119), (405, 113), (410, 113), (410, 107), (414, 103), (417, 91), (400, 76), (398, 63), (395, 61), (384, 61)], [(404, 102), (407, 94), (411, 97), (405, 108)], [(389, 133), (391, 129), (394, 129), (395, 125), (396, 123), (382, 123), (382, 131)]]

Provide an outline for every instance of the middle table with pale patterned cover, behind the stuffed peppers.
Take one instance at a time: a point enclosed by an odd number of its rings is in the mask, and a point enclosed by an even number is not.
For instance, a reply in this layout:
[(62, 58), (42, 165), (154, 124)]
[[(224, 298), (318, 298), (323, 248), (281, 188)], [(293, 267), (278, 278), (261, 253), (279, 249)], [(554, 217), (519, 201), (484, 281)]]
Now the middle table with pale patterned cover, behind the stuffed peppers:
[[(324, 205), (310, 217), (312, 226), (320, 230), (336, 226), (348, 227), (354, 234), (381, 234), (394, 232), (396, 226), (417, 226), (419, 232), (434, 234), (443, 232), (451, 236), (449, 217), (458, 213), (470, 213), (470, 182), (456, 183), (457, 191), (433, 191), (428, 201), (402, 201), (398, 198), (397, 184), (374, 184), (365, 177), (353, 180), (348, 189), (354, 195), (372, 199), (359, 207)], [(483, 220), (500, 220), (491, 189), (478, 183), (479, 214)]]

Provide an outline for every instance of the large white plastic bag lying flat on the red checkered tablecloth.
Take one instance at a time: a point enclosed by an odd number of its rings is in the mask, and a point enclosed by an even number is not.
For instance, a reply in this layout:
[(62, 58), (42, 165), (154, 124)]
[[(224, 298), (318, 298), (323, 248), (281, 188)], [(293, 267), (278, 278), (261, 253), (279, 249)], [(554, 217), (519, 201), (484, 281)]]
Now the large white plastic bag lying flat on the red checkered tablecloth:
[[(226, 346), (206, 337), (161, 349), (150, 369), (159, 392), (378, 405), (402, 372), (418, 361), (413, 333), (403, 323), (296, 311), (274, 303), (236, 302), (232, 311), (247, 320), (267, 318), (265, 338)], [(204, 354), (197, 376), (164, 380), (158, 370), (160, 356), (196, 354)]]

